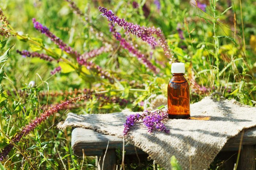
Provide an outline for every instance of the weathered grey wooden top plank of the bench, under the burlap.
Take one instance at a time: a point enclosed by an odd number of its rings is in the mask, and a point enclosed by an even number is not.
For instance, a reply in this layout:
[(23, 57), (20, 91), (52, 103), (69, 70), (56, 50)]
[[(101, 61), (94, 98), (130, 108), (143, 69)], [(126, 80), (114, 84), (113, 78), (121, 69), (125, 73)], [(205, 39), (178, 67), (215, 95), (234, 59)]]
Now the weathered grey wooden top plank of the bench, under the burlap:
[[(240, 144), (241, 134), (228, 140), (223, 147), (222, 151), (234, 151), (238, 150)], [(71, 145), (76, 155), (82, 156), (82, 149), (86, 155), (101, 155), (100, 150), (106, 149), (109, 141), (109, 149), (122, 149), (123, 139), (117, 138), (112, 135), (103, 135), (93, 130), (84, 128), (75, 128), (72, 131)], [(245, 130), (243, 136), (243, 145), (256, 144), (256, 127)], [(93, 154), (93, 150), (95, 153)], [(125, 143), (126, 154), (136, 154), (134, 146)], [(138, 154), (144, 152), (137, 148)]]

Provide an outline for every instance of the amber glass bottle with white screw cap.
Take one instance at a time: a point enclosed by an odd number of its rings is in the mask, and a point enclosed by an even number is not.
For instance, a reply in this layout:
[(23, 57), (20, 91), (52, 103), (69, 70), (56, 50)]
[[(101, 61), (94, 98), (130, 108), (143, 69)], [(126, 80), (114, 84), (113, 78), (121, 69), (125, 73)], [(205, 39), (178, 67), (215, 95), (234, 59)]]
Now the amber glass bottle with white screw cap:
[(170, 119), (190, 117), (189, 85), (184, 77), (184, 63), (172, 63), (172, 75), (168, 84), (168, 115)]

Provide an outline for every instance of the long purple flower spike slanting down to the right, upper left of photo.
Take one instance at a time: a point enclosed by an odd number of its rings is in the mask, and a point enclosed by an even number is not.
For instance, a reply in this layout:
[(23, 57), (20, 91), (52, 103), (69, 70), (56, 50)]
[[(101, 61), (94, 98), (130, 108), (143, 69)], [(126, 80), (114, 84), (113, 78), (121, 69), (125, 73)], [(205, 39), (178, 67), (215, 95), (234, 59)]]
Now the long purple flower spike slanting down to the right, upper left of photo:
[(42, 34), (45, 34), (47, 37), (49, 37), (59, 48), (66, 53), (70, 54), (72, 57), (75, 57), (79, 65), (84, 65), (89, 70), (93, 70), (99, 76), (102, 78), (107, 78), (110, 82), (113, 82), (112, 76), (105, 71), (102, 70), (102, 68), (98, 65), (95, 65), (93, 62), (87, 61), (78, 51), (72, 49), (70, 46), (65, 44), (63, 40), (61, 40), (59, 37), (54, 35), (52, 32), (49, 31), (49, 29), (45, 26), (43, 26), (41, 23), (37, 22), (34, 18), (32, 19), (34, 27), (40, 31)]

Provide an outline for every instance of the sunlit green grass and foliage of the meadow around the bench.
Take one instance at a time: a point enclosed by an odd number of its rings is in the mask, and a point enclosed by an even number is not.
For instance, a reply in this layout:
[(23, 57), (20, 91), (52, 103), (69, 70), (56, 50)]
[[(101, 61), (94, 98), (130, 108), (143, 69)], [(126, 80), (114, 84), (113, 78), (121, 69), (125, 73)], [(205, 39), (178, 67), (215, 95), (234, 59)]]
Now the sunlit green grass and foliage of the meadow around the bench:
[[(240, 4), (238, 0), (207, 0), (204, 1), (207, 4), (206, 12), (185, 0), (160, 2), (161, 8), (158, 11), (154, 0), (140, 0), (138, 8), (133, 8), (132, 1), (127, 0), (75, 0), (80, 10), (85, 13), (81, 17), (73, 13), (64, 0), (0, 1), (0, 7), (13, 28), (12, 33), (19, 32), (26, 38), (0, 37), (0, 56), (11, 47), (7, 61), (0, 63), (1, 67), (4, 65), (4, 73), (0, 75), (3, 79), (0, 98), (0, 150), (8, 146), (9, 139), (14, 138), (23, 126), (39, 117), (46, 108), (68, 100), (70, 96), (76, 97), (78, 94), (74, 92), (75, 89), (89, 88), (94, 92), (128, 101), (127, 104), (120, 105), (93, 95), (86, 102), (73, 105), (67, 112), (64, 109), (55, 113), (16, 143), (8, 158), (1, 162), (6, 169), (29, 169), (31, 165), (37, 169), (95, 169), (94, 157), (86, 157), (81, 167), (83, 159), (72, 154), (71, 130), (58, 130), (55, 125), (57, 121), (64, 120), (68, 112), (91, 114), (123, 109), (142, 111), (142, 101), (151, 94), (167, 96), (167, 84), (171, 77), (170, 63), (162, 48), (152, 49), (132, 34), (125, 35), (124, 30), (116, 26), (121, 35), (133, 42), (133, 45), (138, 45), (137, 48), (143, 54), (152, 55), (151, 62), (161, 70), (154, 75), (128, 50), (120, 47), (119, 42), (109, 32), (108, 20), (98, 11), (100, 5), (112, 9), (118, 17), (125, 18), (128, 22), (161, 28), (174, 57), (185, 63), (185, 77), (191, 85), (191, 103), (212, 92), (220, 92), (225, 98), (235, 98), (242, 104), (255, 105), (256, 2), (247, 0)], [(145, 5), (150, 11), (148, 16), (143, 11)], [(108, 70), (115, 77), (114, 84), (78, 66), (76, 59), (61, 51), (49, 38), (35, 30), (32, 18), (47, 26), (80, 53), (102, 47), (106, 42), (111, 44), (112, 51), (98, 55), (91, 61)], [(181, 28), (184, 39), (179, 37), (178, 27)], [(5, 45), (4, 40), (7, 40)], [(33, 41), (39, 42), (41, 47), (35, 46)], [(48, 50), (47, 54), (69, 59), (70, 62), (60, 63), (61, 73), (51, 76), (50, 71), (58, 66), (57, 62), (23, 58), (16, 50), (39, 53), (47, 53)], [(30, 81), (35, 81), (36, 86), (29, 87)], [(208, 91), (196, 88), (194, 81)], [(72, 91), (72, 94), (60, 94), (65, 91)], [(118, 167), (121, 166), (120, 160)], [(220, 162), (221, 160), (215, 160), (210, 169), (216, 169)], [(148, 161), (143, 166), (126, 166), (153, 169), (153, 162)]]

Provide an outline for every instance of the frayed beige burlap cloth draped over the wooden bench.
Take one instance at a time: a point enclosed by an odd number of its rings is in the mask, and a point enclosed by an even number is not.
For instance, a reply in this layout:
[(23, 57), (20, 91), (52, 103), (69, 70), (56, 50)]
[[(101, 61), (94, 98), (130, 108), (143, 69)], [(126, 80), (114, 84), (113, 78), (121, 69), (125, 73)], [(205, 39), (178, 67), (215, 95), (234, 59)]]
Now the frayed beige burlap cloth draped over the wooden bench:
[[(76, 115), (69, 113), (60, 129), (90, 128), (97, 132), (123, 137), (126, 116), (134, 112)], [(127, 141), (142, 149), (165, 169), (171, 169), (170, 158), (175, 155), (183, 169), (207, 169), (227, 140), (242, 129), (256, 126), (256, 108), (235, 100), (212, 100), (210, 97), (191, 105), (192, 119), (168, 119), (164, 123), (170, 134), (147, 131), (137, 123)], [(206, 119), (206, 120), (202, 120)], [(207, 120), (209, 119), (209, 120)]]

